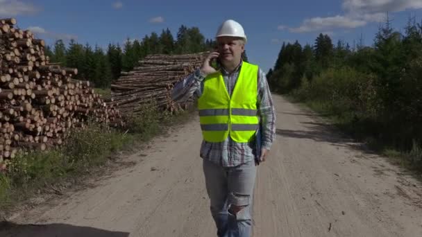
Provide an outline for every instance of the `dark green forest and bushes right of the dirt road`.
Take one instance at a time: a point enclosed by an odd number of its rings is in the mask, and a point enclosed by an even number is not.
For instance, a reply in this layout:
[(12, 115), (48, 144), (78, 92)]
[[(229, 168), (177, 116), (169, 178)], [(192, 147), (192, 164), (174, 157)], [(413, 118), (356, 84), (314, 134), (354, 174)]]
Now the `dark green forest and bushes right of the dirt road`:
[[(388, 19), (371, 46), (319, 34), (314, 44), (282, 44), (267, 73), (272, 91), (289, 94), (333, 118), (375, 148), (406, 151), (421, 167), (422, 24), (403, 30)], [(382, 145), (382, 146), (380, 146)]]

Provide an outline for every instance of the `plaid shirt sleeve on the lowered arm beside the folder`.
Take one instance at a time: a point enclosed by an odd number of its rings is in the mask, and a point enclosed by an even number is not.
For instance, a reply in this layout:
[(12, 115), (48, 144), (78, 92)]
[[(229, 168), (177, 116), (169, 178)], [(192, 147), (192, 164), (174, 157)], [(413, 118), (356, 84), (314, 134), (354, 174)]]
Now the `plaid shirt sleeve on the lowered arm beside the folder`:
[(258, 112), (261, 119), (261, 147), (270, 150), (276, 137), (276, 111), (273, 98), (269, 89), (267, 76), (264, 71), (259, 71), (258, 87)]

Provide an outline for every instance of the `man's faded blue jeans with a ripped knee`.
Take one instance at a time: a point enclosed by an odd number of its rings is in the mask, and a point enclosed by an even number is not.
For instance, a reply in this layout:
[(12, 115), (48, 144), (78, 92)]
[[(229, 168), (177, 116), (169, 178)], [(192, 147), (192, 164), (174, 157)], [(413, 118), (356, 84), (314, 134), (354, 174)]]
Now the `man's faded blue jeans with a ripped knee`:
[[(252, 198), (255, 161), (225, 168), (203, 159), (205, 186), (218, 237), (249, 237), (252, 229)], [(233, 213), (230, 207), (243, 207)]]

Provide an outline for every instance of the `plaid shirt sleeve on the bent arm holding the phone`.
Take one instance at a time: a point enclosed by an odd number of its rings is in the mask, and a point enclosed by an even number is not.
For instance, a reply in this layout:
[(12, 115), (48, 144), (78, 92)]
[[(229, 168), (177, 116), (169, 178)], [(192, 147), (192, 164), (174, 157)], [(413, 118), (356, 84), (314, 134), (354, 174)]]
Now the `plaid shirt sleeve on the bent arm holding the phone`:
[(196, 71), (174, 85), (171, 91), (171, 98), (177, 103), (183, 103), (192, 96), (199, 98), (202, 94), (204, 78), (203, 73), (196, 69)]

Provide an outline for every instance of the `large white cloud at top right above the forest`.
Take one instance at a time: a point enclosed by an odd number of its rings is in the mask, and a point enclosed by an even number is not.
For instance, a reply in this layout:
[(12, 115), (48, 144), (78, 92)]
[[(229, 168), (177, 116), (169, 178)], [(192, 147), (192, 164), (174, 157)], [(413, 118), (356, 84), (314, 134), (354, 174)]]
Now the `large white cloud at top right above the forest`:
[(303, 20), (301, 26), (289, 28), (294, 33), (332, 31), (365, 26), (370, 22), (385, 21), (386, 12), (400, 12), (422, 8), (422, 0), (343, 0), (344, 15), (313, 17)]

